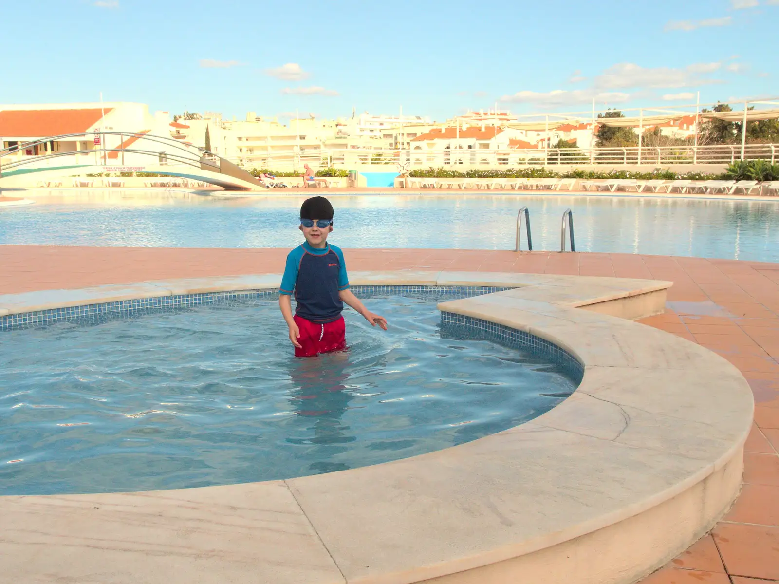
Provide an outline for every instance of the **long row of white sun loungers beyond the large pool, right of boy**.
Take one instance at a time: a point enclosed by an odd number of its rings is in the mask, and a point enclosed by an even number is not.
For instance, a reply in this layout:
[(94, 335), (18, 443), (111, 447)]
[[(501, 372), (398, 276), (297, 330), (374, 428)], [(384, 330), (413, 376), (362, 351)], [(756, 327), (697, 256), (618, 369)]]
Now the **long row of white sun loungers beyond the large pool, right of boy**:
[[(579, 179), (406, 179), (410, 189), (528, 189), (528, 190), (572, 190)], [(756, 180), (706, 180), (680, 179), (633, 180), (583, 180), (580, 189), (586, 191), (626, 191), (634, 193), (741, 193), (779, 195), (779, 181), (758, 182)]]

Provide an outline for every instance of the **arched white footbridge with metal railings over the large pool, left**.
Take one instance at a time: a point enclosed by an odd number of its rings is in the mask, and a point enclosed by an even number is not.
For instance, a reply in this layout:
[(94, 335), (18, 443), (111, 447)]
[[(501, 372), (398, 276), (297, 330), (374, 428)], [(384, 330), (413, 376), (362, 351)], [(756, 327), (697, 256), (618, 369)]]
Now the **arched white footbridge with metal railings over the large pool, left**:
[[(93, 150), (74, 150), (69, 152), (52, 152), (45, 155), (32, 157), (20, 157), (19, 151), (26, 148), (34, 148), (42, 144), (58, 142), (62, 140), (93, 140), (95, 136), (100, 136), (100, 145), (103, 147)], [(119, 143), (117, 147), (106, 147), (105, 136), (118, 136)], [(153, 143), (159, 143), (165, 147), (165, 150), (146, 150), (144, 148), (132, 148), (125, 146), (125, 140), (135, 139), (146, 140)], [(115, 157), (121, 162), (115, 165), (108, 163), (108, 154), (115, 153)], [(144, 168), (144, 172), (153, 172), (159, 175), (178, 176), (186, 179), (209, 182), (210, 184), (221, 186), (225, 190), (264, 190), (266, 189), (251, 173), (243, 168), (234, 165), (232, 162), (213, 154), (209, 150), (200, 147), (182, 144), (178, 140), (166, 136), (155, 136), (153, 134), (139, 132), (97, 132), (97, 133), (75, 133), (62, 134), (60, 136), (48, 136), (41, 140), (32, 140), (30, 142), (19, 143), (12, 147), (6, 147), (0, 150), (0, 186), (10, 186), (11, 182), (19, 182), (19, 177), (31, 173), (46, 173), (47, 175), (77, 175), (85, 170), (91, 172), (100, 172), (100, 168), (118, 168), (121, 171), (124, 167), (125, 154), (139, 154), (157, 158), (158, 163)], [(76, 156), (100, 156), (102, 162), (90, 162), (87, 164), (51, 166), (51, 161), (58, 158), (73, 158)], [(10, 160), (11, 158), (15, 160)], [(4, 160), (5, 158), (5, 160)], [(78, 161), (78, 158), (76, 159)], [(174, 165), (168, 165), (173, 162)], [(45, 163), (41, 165), (41, 163)]]

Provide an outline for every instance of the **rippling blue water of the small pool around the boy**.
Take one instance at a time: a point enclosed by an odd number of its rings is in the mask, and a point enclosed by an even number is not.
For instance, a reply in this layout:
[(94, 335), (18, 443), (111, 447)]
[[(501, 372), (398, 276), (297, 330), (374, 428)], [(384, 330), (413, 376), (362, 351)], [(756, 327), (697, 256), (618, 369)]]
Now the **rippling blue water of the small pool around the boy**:
[(516, 426), (576, 387), (551, 358), (451, 338), (430, 297), (365, 303), (388, 331), (347, 310), (347, 351), (308, 359), (267, 300), (0, 333), (0, 494), (351, 469)]

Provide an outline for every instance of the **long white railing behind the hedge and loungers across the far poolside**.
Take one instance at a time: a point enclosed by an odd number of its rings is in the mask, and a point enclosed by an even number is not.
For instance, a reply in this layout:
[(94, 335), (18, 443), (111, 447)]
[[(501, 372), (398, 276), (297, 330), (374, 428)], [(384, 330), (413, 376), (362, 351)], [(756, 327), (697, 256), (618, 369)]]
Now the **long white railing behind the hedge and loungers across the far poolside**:
[[(244, 168), (301, 168), (308, 164), (317, 168), (334, 166), (351, 168), (371, 166), (377, 171), (395, 170), (398, 165), (408, 168), (428, 167), (517, 167), (531, 165), (642, 165), (647, 167), (670, 165), (724, 165), (742, 158), (740, 144), (717, 146), (661, 146), (616, 148), (549, 148), (532, 150), (392, 150), (392, 149), (328, 149), (260, 152), (227, 159)], [(746, 160), (763, 159), (776, 164), (779, 144), (746, 144)]]

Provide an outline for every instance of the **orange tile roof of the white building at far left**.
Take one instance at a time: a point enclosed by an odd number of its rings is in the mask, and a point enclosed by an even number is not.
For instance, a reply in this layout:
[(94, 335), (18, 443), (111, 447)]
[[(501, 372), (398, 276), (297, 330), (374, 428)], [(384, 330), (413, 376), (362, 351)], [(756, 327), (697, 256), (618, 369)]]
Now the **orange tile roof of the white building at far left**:
[[(108, 114), (113, 108), (105, 108)], [(0, 136), (37, 138), (86, 132), (103, 117), (100, 108), (0, 111)]]

